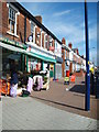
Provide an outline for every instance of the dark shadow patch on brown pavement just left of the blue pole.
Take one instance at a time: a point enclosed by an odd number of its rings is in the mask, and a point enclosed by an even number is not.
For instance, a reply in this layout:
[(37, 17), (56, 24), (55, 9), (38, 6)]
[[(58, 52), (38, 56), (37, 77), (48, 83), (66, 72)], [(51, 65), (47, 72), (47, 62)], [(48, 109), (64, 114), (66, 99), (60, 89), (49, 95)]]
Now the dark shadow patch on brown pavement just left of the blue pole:
[(73, 88), (69, 89), (69, 91), (85, 94), (86, 86), (85, 85), (75, 85)]

